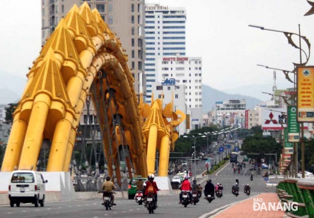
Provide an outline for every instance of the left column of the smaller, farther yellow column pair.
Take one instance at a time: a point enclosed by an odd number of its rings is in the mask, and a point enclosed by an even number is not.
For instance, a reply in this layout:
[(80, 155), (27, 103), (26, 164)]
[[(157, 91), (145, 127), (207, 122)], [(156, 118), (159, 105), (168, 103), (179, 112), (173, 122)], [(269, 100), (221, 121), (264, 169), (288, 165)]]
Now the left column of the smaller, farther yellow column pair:
[(148, 174), (155, 172), (156, 146), (157, 146), (158, 126), (149, 127), (148, 148), (147, 148), (147, 170)]

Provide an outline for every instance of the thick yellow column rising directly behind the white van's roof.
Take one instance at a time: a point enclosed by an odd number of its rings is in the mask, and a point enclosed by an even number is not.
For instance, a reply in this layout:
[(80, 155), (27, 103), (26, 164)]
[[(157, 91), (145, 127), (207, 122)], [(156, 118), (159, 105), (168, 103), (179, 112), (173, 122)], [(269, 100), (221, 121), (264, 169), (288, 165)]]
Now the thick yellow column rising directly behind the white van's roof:
[(19, 169), (36, 168), (38, 155), (41, 151), (43, 133), (50, 107), (50, 97), (39, 94), (34, 99), (28, 128), (23, 144)]

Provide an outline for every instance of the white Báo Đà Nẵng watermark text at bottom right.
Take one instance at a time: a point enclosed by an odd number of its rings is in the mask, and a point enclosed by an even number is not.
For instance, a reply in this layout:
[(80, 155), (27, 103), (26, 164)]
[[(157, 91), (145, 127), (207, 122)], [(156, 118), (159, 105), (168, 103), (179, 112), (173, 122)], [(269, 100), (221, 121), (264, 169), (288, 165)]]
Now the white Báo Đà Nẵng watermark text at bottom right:
[(298, 202), (264, 202), (262, 198), (253, 198), (253, 211), (297, 211)]

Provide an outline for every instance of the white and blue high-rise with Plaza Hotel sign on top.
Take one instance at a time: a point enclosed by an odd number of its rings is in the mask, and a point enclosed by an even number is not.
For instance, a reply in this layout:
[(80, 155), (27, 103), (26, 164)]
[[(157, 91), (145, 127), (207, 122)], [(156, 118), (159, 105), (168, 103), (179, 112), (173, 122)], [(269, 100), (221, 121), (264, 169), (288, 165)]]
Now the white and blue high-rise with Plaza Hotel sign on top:
[(158, 82), (156, 58), (185, 56), (186, 11), (182, 7), (145, 5), (146, 102), (151, 102), (152, 84)]

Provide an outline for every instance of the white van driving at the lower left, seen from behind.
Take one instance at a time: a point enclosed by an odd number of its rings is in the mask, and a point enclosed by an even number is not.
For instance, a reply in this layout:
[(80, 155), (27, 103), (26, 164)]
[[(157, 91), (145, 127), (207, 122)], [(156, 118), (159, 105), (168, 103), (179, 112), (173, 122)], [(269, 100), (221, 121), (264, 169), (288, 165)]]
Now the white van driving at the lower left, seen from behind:
[(16, 170), (12, 172), (9, 182), (10, 206), (17, 207), (20, 203), (33, 203), (44, 206), (45, 203), (45, 184), (42, 173), (31, 170)]

